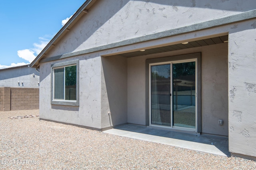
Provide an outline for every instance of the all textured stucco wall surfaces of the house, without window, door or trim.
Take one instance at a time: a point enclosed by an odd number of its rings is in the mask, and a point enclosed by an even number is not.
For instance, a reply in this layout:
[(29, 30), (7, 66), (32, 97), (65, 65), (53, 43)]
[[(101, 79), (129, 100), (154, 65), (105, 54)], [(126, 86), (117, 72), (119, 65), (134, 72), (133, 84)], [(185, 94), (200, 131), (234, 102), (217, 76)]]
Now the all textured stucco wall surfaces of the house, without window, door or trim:
[[(256, 9), (254, 0), (151, 0), (149, 2), (98, 0), (90, 8), (89, 13), (58, 41), (46, 58), (189, 26), (252, 9)], [(145, 108), (148, 102), (145, 97), (147, 83), (145, 60), (201, 52), (202, 132), (228, 135), (230, 152), (256, 156), (255, 30), (256, 20), (247, 20), (42, 63), (40, 64), (40, 117), (99, 129), (111, 126), (111, 123), (113, 125), (126, 121), (145, 125), (148, 114)], [(220, 35), (228, 35), (228, 43), (128, 59), (100, 57)], [(80, 106), (51, 105), (50, 65), (75, 59), (80, 60)], [(115, 94), (115, 90), (118, 93)], [(118, 114), (120, 110), (123, 111)], [(108, 112), (112, 113), (111, 117)], [(223, 119), (224, 125), (218, 125), (218, 119)]]

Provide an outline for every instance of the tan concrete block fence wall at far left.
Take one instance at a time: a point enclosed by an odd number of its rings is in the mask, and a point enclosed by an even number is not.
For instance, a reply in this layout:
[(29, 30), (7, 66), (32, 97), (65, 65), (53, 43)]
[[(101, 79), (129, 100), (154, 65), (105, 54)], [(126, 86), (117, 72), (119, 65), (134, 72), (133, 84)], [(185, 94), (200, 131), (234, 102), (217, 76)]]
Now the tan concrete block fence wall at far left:
[(0, 111), (39, 109), (39, 88), (0, 87)]

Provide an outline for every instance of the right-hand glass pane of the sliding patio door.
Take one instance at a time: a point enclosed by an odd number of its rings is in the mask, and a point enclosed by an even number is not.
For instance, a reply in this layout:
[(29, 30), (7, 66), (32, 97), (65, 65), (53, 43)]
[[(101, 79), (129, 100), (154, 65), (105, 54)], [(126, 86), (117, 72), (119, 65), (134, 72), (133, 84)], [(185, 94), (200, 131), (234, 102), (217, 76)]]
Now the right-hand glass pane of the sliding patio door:
[(172, 64), (173, 126), (196, 128), (196, 62)]

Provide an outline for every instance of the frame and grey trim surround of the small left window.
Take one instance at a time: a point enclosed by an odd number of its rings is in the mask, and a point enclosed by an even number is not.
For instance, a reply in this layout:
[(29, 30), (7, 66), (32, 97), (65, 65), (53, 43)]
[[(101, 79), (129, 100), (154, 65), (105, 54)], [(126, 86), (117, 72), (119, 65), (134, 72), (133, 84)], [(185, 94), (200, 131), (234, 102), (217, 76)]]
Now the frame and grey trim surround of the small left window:
[[(74, 66), (74, 65), (76, 65), (76, 100), (65, 100), (65, 98), (64, 100), (54, 99), (54, 69), (65, 68), (67, 66)], [(64, 90), (64, 93), (65, 93), (65, 90)], [(51, 65), (51, 104), (79, 106), (79, 60), (66, 61), (66, 62), (55, 63)]]

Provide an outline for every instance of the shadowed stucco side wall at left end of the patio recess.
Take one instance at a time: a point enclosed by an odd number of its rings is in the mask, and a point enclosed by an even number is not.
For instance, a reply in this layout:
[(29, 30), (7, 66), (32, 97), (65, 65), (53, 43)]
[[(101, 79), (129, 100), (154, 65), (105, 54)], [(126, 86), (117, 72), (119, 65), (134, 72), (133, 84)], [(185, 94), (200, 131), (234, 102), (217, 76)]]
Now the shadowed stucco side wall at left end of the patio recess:
[[(103, 99), (108, 102), (104, 107), (110, 115), (105, 123), (109, 126), (120, 125), (127, 123), (127, 59), (124, 57), (112, 56), (102, 57), (102, 68), (104, 72), (104, 81), (106, 89), (102, 87)], [(102, 113), (102, 114), (108, 114)]]

